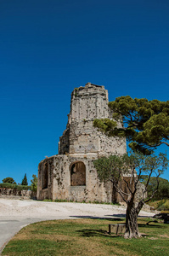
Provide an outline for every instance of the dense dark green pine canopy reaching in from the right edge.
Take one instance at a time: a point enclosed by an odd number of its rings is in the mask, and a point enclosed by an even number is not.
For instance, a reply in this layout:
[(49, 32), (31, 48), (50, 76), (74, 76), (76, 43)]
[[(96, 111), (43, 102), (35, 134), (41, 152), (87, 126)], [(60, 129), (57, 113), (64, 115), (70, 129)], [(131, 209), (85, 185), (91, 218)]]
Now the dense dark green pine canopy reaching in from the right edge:
[[(121, 96), (109, 102), (113, 118), (95, 119), (93, 125), (108, 136), (126, 137), (132, 150), (152, 154), (153, 150), (165, 143), (169, 146), (169, 101), (148, 101)], [(124, 126), (117, 126), (119, 121)]]

